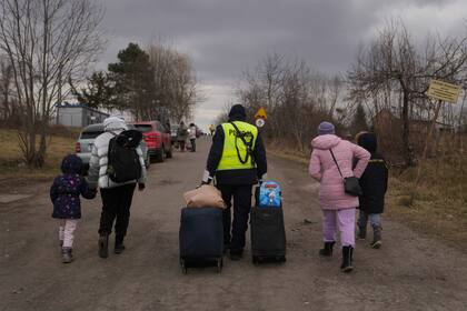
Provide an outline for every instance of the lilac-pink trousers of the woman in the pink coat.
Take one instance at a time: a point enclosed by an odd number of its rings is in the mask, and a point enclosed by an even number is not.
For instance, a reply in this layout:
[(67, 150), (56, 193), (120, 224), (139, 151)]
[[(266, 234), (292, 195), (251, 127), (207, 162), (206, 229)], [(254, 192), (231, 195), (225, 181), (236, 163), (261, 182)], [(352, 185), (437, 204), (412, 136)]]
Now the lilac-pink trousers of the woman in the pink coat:
[(355, 247), (355, 209), (322, 210), (322, 234), (325, 242), (336, 241), (338, 227), (342, 247)]

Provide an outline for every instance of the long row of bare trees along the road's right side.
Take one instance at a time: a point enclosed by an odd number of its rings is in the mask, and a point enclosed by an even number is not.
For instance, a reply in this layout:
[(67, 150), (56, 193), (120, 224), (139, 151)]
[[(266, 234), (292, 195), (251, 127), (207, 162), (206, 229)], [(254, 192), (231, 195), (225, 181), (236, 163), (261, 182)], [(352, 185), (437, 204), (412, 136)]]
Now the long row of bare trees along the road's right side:
[(444, 136), (459, 150), (467, 130), (467, 32), (416, 43), (404, 22), (394, 20), (360, 47), (347, 72), (337, 74), (268, 54), (244, 73), (236, 100), (250, 116), (266, 108), (264, 134), (282, 146), (307, 151), (319, 122), (328, 120), (344, 137), (376, 131), (391, 161), (408, 168), (421, 157), (440, 104), (426, 94), (433, 79), (463, 86), (460, 106), (441, 106), (435, 136), (438, 147)]

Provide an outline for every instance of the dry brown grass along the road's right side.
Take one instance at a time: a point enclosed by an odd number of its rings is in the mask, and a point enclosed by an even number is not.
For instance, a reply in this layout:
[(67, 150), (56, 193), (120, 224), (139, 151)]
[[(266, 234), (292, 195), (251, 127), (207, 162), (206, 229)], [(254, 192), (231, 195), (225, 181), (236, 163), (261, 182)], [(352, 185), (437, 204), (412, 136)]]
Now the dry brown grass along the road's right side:
[[(272, 144), (277, 146), (277, 144)], [(306, 152), (269, 146), (268, 152), (308, 165)], [(451, 247), (467, 248), (467, 167), (466, 157), (431, 159), (424, 164), (423, 183), (414, 203), (410, 197), (416, 169), (397, 173), (391, 170), (384, 218), (405, 223), (417, 232)], [(304, 165), (304, 169), (307, 167)]]

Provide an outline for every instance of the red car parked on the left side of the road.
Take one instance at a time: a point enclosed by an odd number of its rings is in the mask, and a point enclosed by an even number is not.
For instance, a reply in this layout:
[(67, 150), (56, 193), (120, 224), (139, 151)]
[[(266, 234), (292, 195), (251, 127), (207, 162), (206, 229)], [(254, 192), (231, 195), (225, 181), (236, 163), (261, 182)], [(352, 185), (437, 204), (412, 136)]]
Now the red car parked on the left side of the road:
[(157, 162), (163, 162), (166, 158), (172, 158), (170, 129), (166, 129), (159, 121), (135, 122), (133, 126), (142, 132), (151, 158), (153, 157)]

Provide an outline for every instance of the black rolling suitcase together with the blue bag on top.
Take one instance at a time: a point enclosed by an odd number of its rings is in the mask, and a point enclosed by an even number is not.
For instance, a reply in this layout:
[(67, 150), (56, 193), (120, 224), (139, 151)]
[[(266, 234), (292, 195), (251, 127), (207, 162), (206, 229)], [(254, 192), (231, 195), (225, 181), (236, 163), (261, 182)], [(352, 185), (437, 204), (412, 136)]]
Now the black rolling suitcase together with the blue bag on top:
[(256, 189), (250, 214), (251, 254), (255, 264), (286, 262), (286, 230), (280, 187), (265, 182)]

